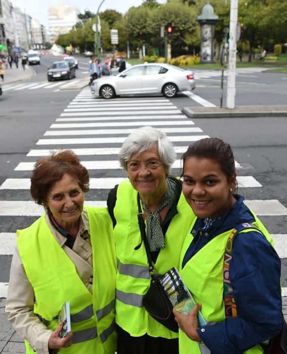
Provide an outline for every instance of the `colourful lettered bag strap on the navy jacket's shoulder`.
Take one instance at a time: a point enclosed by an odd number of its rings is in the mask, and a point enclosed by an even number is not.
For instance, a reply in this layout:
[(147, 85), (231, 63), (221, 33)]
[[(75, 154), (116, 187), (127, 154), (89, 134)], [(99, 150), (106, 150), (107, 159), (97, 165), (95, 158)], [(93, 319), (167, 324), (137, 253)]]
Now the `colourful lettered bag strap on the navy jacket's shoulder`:
[(225, 306), (225, 317), (237, 316), (237, 307), (234, 299), (233, 285), (229, 279), (229, 267), (230, 267), (230, 262), (232, 260), (233, 241), (235, 239), (235, 236), (239, 234), (239, 232), (241, 232), (242, 230), (249, 230), (249, 229), (255, 229), (263, 235), (261, 230), (258, 229), (256, 226), (249, 223), (243, 223), (238, 225), (236, 228), (234, 228), (231, 231), (226, 243), (225, 252), (224, 252), (224, 263), (223, 263), (223, 282), (224, 282), (223, 299), (224, 299), (224, 306)]

